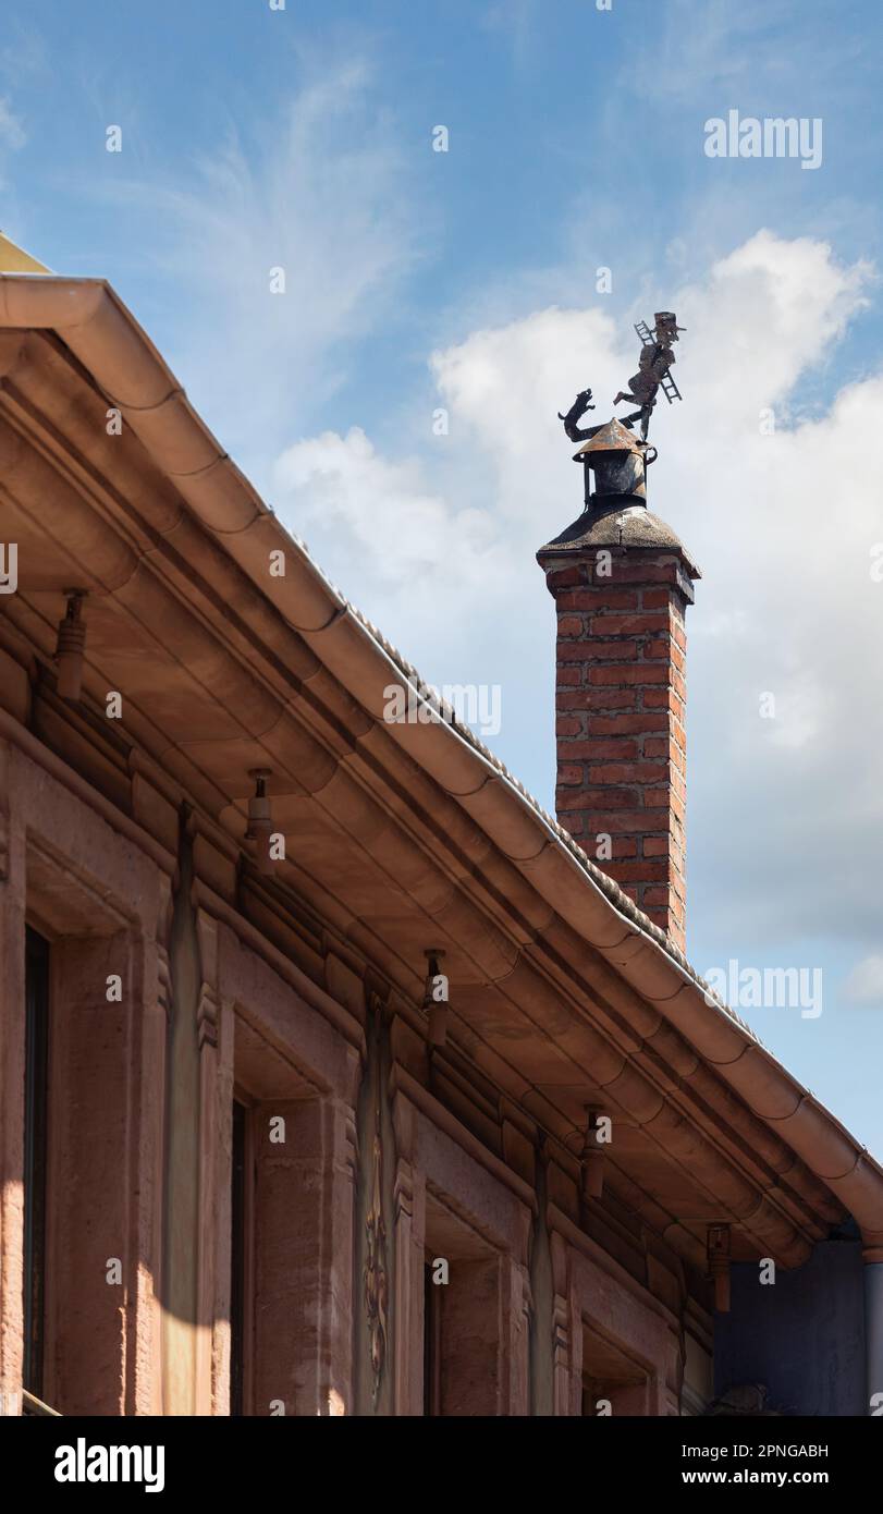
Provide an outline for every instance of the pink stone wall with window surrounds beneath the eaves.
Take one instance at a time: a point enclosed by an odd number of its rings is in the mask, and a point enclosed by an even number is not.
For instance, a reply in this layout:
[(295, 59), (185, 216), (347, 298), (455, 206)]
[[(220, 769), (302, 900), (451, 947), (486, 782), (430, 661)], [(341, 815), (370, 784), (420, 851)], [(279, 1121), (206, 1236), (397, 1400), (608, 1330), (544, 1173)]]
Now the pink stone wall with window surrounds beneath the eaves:
[[(164, 1172), (176, 858), (23, 734), (3, 763), (3, 1393), (21, 1393), (24, 924), (50, 940), (51, 1060), (44, 1399), (62, 1414), (227, 1414), (230, 1129), (247, 1105), (244, 1400), (248, 1414), (357, 1411), (365, 1329), (354, 1270), (363, 1002), (351, 969), (314, 986), (194, 883), (200, 940), (195, 1308), (167, 1308)], [(115, 824), (114, 824), (115, 822)], [(109, 974), (123, 980), (108, 1002)], [(301, 990), (301, 992), (298, 992)], [(392, 1017), (395, 1023), (395, 1017)], [(207, 1030), (206, 1030), (207, 1026)], [(413, 1031), (398, 1026), (403, 1040)], [(395, 1040), (395, 1036), (392, 1037)], [(424, 1414), (424, 1266), (442, 1257), (435, 1413), (532, 1408), (536, 1193), (392, 1060), (388, 1413)], [(285, 1120), (285, 1140), (271, 1122)], [(586, 1331), (613, 1337), (642, 1387), (622, 1413), (677, 1414), (677, 1319), (548, 1205), (551, 1413), (583, 1413)], [(595, 1255), (589, 1255), (589, 1249)], [(120, 1263), (120, 1281), (108, 1269)], [(541, 1332), (542, 1334), (542, 1332)]]

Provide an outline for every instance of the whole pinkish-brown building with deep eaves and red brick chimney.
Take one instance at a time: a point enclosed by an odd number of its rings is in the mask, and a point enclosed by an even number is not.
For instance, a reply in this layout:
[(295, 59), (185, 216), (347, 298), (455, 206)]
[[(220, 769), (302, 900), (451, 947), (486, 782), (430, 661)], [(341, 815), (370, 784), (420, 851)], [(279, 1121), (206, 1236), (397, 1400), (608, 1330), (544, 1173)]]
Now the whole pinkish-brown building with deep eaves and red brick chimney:
[(683, 957), (695, 574), (636, 512), (541, 553), (559, 824), (385, 718), (105, 283), (0, 277), (6, 1413), (794, 1413), (822, 1273), (815, 1413), (872, 1413), (883, 1173)]

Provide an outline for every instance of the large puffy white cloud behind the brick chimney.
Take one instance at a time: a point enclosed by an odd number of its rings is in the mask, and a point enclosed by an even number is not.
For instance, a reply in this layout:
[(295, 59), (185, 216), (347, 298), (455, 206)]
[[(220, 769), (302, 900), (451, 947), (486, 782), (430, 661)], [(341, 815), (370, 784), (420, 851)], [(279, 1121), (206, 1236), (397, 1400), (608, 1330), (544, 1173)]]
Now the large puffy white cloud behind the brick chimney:
[[(671, 301), (688, 327), (685, 403), (654, 418), (650, 498), (706, 574), (688, 615), (691, 854), (700, 877), (713, 872), (729, 939), (872, 928), (883, 378), (786, 424), (868, 280), (821, 242), (760, 232)], [(497, 746), (550, 802), (553, 612), (535, 551), (582, 507), (556, 410), (591, 383), (594, 418), (610, 415), (635, 341), (598, 307), (553, 307), (477, 330), (430, 366), (448, 438), (403, 462), (360, 431), (324, 433), (280, 460), (279, 507), (295, 530), (307, 522), (320, 562), (427, 677), (492, 666), (504, 696)], [(769, 407), (775, 430), (763, 435)], [(775, 695), (772, 721), (760, 718), (763, 692)]]

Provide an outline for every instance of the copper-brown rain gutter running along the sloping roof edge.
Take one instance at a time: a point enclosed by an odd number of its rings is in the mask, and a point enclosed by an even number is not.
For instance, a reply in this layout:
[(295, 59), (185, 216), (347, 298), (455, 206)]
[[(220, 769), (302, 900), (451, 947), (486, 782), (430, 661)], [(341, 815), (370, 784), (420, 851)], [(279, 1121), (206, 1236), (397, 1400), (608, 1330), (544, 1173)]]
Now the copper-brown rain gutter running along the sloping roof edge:
[[(420, 683), (382, 634), (264, 504), (189, 404), (132, 313), (105, 280), (0, 274), (0, 327), (51, 330), (120, 407), (177, 492), (286, 622), (377, 722), (389, 672)], [(267, 578), (283, 547), (285, 578)], [(603, 874), (573, 837), (468, 730), (453, 721), (385, 725), (432, 772), (542, 898), (644, 999), (686, 1036), (745, 1105), (768, 1123), (856, 1217), (866, 1260), (883, 1261), (883, 1169), (762, 1046), (686, 957)], [(500, 802), (503, 801), (503, 802)], [(574, 890), (573, 880), (582, 887)]]

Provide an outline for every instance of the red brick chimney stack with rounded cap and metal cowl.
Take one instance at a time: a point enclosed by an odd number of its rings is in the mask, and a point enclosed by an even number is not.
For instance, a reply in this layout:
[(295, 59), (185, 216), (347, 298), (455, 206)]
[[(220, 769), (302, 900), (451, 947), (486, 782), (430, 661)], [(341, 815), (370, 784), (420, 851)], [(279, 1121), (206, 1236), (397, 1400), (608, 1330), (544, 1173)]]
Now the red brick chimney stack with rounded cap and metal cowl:
[(586, 509), (536, 556), (557, 615), (559, 824), (683, 951), (685, 610), (700, 572), (647, 509), (654, 457), (618, 421), (598, 427), (576, 454)]

